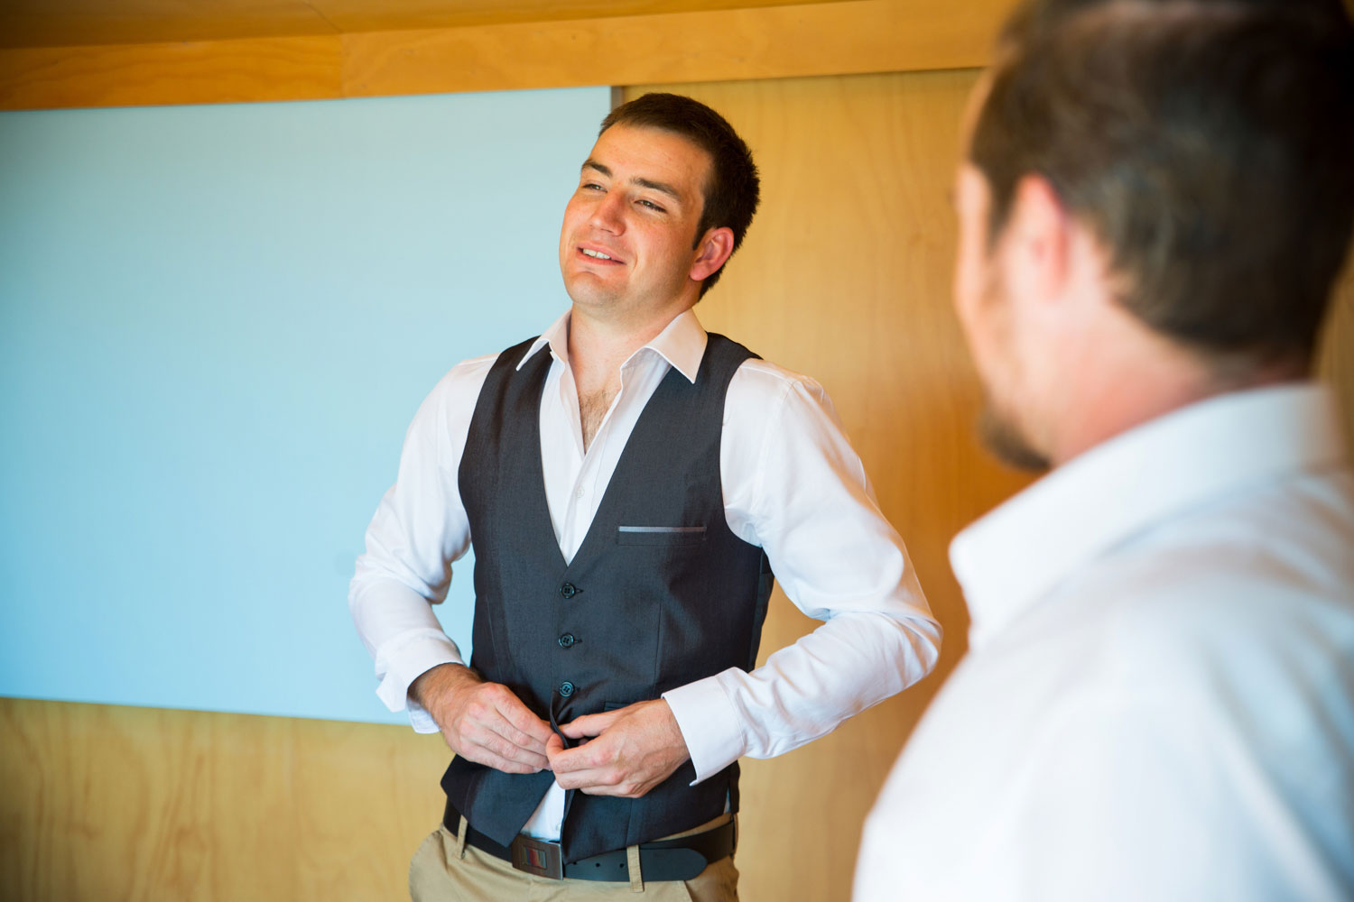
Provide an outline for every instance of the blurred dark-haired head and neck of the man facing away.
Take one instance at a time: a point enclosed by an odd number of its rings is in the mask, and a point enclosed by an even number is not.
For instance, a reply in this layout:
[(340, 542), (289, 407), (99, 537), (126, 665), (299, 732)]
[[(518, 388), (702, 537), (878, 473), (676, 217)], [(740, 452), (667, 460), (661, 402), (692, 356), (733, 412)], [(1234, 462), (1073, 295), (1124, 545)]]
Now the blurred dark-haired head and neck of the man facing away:
[(1005, 457), (1108, 438), (1067, 434), (1095, 392), (1141, 419), (1308, 372), (1354, 223), (1338, 0), (1029, 3), (969, 134), (956, 302)]

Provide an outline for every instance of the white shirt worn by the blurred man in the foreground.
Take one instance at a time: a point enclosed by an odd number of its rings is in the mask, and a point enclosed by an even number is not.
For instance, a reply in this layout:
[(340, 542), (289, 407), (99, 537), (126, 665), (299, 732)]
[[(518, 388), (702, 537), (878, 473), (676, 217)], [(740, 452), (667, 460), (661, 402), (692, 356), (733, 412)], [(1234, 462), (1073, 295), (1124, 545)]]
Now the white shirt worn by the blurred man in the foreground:
[(1209, 399), (959, 534), (971, 650), (856, 902), (1354, 898), (1354, 480), (1311, 384)]

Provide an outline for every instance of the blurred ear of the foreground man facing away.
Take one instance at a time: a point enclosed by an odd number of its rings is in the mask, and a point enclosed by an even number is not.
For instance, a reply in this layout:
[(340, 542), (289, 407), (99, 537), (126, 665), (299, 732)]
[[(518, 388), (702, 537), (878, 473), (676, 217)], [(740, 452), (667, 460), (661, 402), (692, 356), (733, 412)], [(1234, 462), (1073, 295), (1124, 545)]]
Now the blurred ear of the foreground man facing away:
[(1017, 183), (1001, 249), (1014, 298), (1055, 302), (1064, 295), (1071, 230), (1072, 219), (1047, 179), (1025, 176)]

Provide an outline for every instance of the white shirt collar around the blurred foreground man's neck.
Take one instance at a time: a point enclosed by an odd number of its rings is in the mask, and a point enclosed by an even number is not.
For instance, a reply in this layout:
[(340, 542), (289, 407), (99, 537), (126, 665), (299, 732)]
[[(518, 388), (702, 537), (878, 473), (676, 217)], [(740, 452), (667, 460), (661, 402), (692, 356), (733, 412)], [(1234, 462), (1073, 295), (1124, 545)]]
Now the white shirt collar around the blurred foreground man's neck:
[(1331, 392), (1313, 383), (1229, 392), (1117, 435), (964, 529), (951, 565), (971, 646), (1091, 560), (1244, 483), (1343, 460)]

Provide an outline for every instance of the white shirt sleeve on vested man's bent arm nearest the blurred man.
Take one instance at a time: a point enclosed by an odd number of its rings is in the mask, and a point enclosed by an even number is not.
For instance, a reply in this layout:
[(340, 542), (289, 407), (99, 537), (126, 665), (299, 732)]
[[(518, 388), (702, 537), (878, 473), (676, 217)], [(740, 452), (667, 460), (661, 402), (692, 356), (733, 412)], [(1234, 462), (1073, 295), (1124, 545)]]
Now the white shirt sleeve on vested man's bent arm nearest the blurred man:
[(827, 394), (754, 362), (735, 375), (726, 402), (726, 514), (766, 550), (791, 602), (825, 622), (750, 673), (709, 678), (720, 688), (720, 703), (709, 703), (716, 715), (678, 715), (699, 779), (739, 755), (773, 757), (830, 733), (929, 673), (940, 646), (907, 550)]

